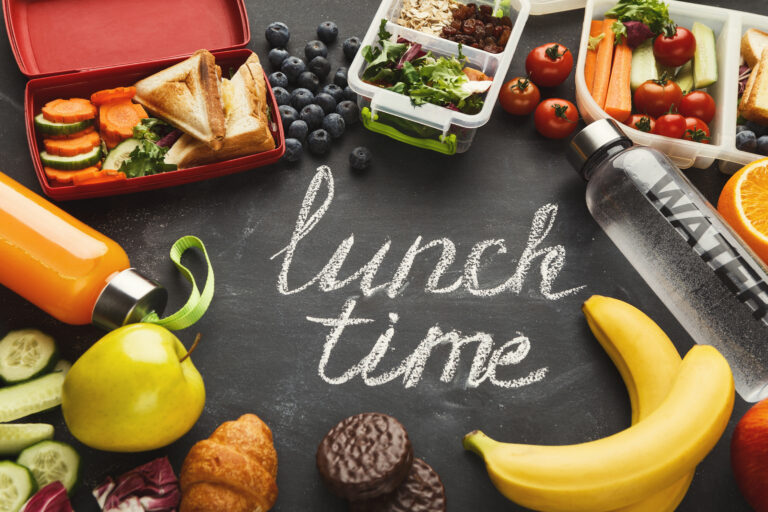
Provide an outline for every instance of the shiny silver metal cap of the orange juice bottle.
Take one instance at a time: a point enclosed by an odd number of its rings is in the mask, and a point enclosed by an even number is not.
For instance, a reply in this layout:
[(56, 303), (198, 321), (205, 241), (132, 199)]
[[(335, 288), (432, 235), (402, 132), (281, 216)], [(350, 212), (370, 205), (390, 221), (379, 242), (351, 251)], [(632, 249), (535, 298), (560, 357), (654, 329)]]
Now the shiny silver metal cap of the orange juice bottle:
[(162, 314), (167, 302), (165, 288), (129, 268), (113, 277), (101, 291), (91, 322), (111, 331), (140, 322), (152, 311)]

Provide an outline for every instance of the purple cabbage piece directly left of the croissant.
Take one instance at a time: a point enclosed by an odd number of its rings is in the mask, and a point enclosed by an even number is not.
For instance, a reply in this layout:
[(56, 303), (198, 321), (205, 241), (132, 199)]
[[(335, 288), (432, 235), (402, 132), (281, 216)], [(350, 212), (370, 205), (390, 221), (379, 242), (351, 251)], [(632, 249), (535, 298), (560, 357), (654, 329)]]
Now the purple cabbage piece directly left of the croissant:
[(167, 457), (155, 459), (93, 491), (104, 512), (173, 512), (181, 493)]

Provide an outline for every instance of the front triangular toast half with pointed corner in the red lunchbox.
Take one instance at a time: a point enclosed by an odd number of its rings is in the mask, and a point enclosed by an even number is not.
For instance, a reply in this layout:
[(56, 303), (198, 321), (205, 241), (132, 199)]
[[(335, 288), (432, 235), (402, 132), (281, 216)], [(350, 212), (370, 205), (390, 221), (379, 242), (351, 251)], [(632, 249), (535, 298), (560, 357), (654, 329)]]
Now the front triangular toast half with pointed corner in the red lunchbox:
[(220, 72), (213, 54), (198, 50), (190, 58), (138, 81), (134, 100), (184, 133), (218, 149), (226, 135)]

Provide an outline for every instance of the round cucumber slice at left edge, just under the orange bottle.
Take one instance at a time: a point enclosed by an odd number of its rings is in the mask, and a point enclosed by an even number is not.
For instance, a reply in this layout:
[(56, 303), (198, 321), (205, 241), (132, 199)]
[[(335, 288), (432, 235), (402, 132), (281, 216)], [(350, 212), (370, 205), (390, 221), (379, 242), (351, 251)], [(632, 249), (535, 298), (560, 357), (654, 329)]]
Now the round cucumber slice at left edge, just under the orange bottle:
[(37, 329), (11, 331), (0, 340), (0, 377), (9, 384), (42, 375), (56, 359), (53, 338)]

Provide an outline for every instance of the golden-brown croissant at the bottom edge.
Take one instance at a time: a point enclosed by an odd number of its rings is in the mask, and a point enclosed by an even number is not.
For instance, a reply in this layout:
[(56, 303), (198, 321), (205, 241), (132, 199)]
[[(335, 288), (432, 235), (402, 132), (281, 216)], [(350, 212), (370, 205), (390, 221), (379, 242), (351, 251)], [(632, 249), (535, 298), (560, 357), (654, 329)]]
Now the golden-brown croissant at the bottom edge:
[(272, 431), (254, 414), (222, 423), (181, 467), (180, 512), (266, 512), (277, 499)]

